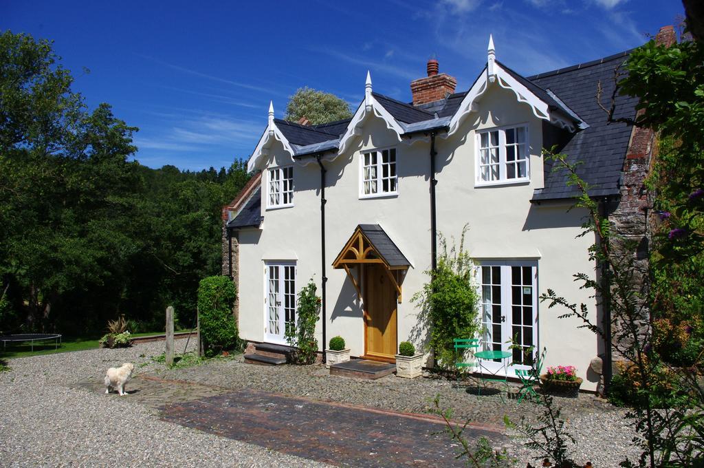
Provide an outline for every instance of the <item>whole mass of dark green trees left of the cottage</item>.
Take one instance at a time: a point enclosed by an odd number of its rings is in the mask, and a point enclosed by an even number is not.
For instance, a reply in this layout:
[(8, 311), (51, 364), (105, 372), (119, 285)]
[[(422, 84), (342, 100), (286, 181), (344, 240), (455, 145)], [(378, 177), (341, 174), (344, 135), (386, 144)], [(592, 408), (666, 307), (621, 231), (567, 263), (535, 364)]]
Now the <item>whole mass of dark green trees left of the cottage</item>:
[(163, 326), (167, 304), (189, 325), (244, 163), (128, 161), (137, 128), (89, 110), (57, 61), (49, 41), (0, 34), (0, 334), (100, 331), (117, 314)]

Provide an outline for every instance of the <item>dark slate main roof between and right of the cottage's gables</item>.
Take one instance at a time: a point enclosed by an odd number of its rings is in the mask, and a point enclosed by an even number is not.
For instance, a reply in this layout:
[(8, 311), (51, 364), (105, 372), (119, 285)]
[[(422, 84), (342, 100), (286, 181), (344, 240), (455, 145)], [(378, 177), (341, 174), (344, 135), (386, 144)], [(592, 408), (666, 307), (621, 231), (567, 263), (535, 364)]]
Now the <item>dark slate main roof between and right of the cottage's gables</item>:
[[(590, 195), (593, 196), (616, 195), (619, 192), (631, 126), (606, 122), (605, 112), (596, 103), (596, 87), (601, 82), (603, 101), (608, 106), (608, 99), (615, 86), (614, 70), (624, 63), (629, 53), (630, 51), (625, 51), (527, 78), (498, 62), (515, 80), (548, 104), (551, 110), (558, 111), (568, 121), (575, 123), (579, 129), (577, 133), (568, 133), (543, 123), (543, 147), (550, 148), (553, 144), (558, 144), (558, 151), (567, 154), (570, 162), (581, 161), (577, 172), (593, 187), (590, 190)], [(477, 79), (482, 73), (477, 75)], [(406, 133), (414, 133), (446, 127), (467, 92), (451, 94), (446, 99), (419, 106), (377, 92), (372, 94)], [(634, 117), (636, 104), (636, 98), (618, 96), (616, 117)], [(296, 157), (299, 157), (337, 149), (350, 119), (307, 126), (281, 119), (275, 119), (275, 122), (291, 143)], [(565, 199), (577, 195), (576, 190), (567, 187), (564, 171), (553, 172), (549, 161), (544, 164), (544, 171), (545, 185), (535, 190), (534, 201)]]

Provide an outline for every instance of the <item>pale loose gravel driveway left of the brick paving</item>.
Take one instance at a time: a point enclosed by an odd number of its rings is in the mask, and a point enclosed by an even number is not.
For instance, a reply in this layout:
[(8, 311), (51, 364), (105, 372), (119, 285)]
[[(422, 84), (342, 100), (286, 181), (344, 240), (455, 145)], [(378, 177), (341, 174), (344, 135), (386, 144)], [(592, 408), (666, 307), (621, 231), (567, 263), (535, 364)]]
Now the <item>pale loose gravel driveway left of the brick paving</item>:
[(11, 371), (0, 373), (0, 466), (327, 466), (161, 421), (156, 410), (130, 401), (132, 395), (69, 388), (101, 381), (106, 368), (122, 362), (147, 371), (158, 365), (149, 356), (163, 347), (141, 343), (11, 359)]

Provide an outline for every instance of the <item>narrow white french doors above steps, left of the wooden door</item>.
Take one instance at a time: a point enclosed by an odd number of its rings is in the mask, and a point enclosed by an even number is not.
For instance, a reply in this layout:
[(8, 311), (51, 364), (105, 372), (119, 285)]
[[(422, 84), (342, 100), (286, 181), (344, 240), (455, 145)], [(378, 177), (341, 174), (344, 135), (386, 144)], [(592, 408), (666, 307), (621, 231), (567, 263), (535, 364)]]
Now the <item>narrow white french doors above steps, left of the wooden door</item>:
[(286, 331), (296, 327), (296, 264), (265, 262), (264, 339), (287, 345)]

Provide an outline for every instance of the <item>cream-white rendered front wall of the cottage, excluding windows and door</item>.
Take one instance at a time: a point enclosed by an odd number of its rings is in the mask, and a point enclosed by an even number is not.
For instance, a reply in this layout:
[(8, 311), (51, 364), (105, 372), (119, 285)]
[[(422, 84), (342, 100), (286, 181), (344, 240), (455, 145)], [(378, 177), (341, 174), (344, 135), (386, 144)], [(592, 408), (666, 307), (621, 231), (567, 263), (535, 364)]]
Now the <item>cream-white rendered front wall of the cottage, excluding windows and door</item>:
[[(491, 109), (491, 111), (489, 111)], [(531, 182), (493, 187), (474, 187), (474, 130), (527, 124), (529, 127)], [(543, 186), (542, 121), (529, 106), (518, 104), (515, 94), (497, 86), (479, 102), (479, 112), (467, 116), (460, 130), (436, 140), (437, 225), (447, 238), (459, 238), (463, 226), (469, 231), (467, 247), (477, 260), (537, 260), (538, 291), (551, 288), (570, 302), (584, 302), (596, 314), (588, 291), (572, 280), (577, 272), (594, 273), (587, 247), (593, 236), (575, 239), (582, 232), (583, 212), (567, 213), (569, 204), (531, 204), (533, 190)], [(360, 152), (396, 147), (398, 196), (359, 199)], [(278, 142), (270, 149), (265, 166), (289, 166), (291, 157)], [(329, 156), (328, 158), (329, 159)], [(241, 338), (264, 340), (264, 260), (294, 260), (296, 287), (313, 278), (320, 293), (320, 168), (294, 165), (294, 207), (266, 209), (267, 175), (262, 178), (261, 230), (239, 233), (239, 326)], [(403, 302), (398, 304), (398, 342), (418, 340), (414, 332), (417, 309), (410, 298), (427, 281), (430, 267), (429, 140), (416, 137), (398, 141), (380, 118), (367, 118), (363, 135), (327, 168), (326, 263), (327, 339), (341, 335), (353, 356), (364, 353), (364, 325), (360, 299), (344, 270), (332, 262), (358, 224), (379, 224), (413, 265), (403, 282)], [(574, 320), (558, 319), (565, 311), (539, 304), (539, 345), (547, 347), (546, 365), (572, 364), (584, 378), (582, 388), (594, 390), (597, 376), (587, 374), (589, 362), (598, 354), (598, 340)], [(318, 341), (322, 346), (322, 326)], [(327, 347), (327, 343), (325, 343)]]

